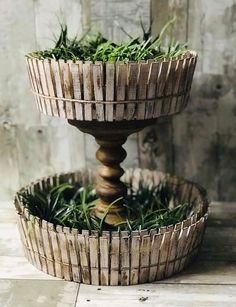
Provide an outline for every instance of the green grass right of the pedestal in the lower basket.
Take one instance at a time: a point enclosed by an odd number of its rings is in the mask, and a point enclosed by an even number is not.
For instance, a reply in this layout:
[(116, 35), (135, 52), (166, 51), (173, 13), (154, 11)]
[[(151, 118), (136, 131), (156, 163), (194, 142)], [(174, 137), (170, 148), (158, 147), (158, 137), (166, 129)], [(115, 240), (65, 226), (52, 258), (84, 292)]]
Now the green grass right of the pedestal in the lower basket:
[(192, 214), (192, 204), (171, 208), (173, 196), (167, 186), (148, 187), (140, 183), (137, 190), (130, 190), (125, 200), (126, 222), (117, 226), (124, 230), (153, 229), (183, 221)]

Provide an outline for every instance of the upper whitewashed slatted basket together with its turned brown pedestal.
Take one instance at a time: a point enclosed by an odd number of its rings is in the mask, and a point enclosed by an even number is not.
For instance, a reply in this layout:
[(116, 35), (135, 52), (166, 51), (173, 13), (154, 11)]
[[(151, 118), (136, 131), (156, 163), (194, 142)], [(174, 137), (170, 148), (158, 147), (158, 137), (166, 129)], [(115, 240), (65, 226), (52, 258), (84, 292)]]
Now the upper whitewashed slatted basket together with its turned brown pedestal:
[[(97, 216), (126, 195), (120, 163), (126, 157), (122, 145), (127, 137), (185, 108), (196, 61), (195, 52), (170, 61), (115, 64), (26, 57), (39, 110), (68, 119), (100, 145), (97, 159), (103, 167), (97, 180)], [(110, 208), (106, 222), (116, 224), (124, 218), (118, 202)]]

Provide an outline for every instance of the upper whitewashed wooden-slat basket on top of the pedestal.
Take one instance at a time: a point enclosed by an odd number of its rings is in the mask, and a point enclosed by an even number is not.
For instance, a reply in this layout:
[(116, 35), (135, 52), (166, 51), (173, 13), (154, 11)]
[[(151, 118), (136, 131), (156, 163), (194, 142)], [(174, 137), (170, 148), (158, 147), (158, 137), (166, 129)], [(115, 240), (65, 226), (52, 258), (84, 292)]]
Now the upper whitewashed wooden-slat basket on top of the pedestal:
[(168, 61), (83, 62), (26, 56), (38, 109), (73, 120), (155, 119), (188, 102), (197, 54)]

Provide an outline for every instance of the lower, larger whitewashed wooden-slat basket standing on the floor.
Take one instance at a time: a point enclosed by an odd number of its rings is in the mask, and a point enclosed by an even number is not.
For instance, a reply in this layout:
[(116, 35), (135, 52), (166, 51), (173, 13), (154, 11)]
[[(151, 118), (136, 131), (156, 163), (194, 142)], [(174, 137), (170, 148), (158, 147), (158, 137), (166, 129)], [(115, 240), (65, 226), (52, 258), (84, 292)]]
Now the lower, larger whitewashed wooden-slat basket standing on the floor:
[(29, 214), (20, 192), (44, 190), (63, 182), (87, 184), (90, 171), (55, 175), (21, 189), (15, 198), (25, 255), (47, 274), (93, 285), (133, 285), (169, 277), (185, 268), (199, 251), (207, 220), (205, 190), (198, 185), (157, 171), (127, 170), (124, 181), (138, 188), (139, 182), (167, 185), (173, 206), (193, 203), (194, 214), (176, 225), (140, 231), (97, 231), (53, 225)]

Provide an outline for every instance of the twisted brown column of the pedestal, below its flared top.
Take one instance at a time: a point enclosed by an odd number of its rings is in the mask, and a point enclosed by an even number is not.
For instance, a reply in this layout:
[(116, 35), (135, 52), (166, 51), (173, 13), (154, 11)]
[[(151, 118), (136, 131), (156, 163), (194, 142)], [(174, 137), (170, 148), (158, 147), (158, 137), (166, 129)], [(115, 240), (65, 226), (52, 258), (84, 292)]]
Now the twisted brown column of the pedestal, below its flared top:
[[(127, 187), (120, 181), (120, 177), (124, 174), (120, 163), (124, 161), (127, 155), (122, 147), (127, 138), (108, 134), (103, 138), (97, 137), (95, 139), (100, 145), (96, 158), (102, 163), (102, 166), (98, 169), (96, 185), (96, 192), (99, 197), (96, 215), (101, 218), (109, 210), (106, 221), (114, 224), (123, 220), (125, 213), (123, 198), (127, 194)], [(113, 203), (112, 206), (111, 203)]]

